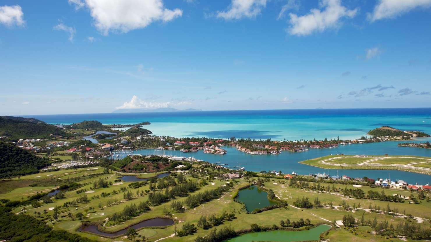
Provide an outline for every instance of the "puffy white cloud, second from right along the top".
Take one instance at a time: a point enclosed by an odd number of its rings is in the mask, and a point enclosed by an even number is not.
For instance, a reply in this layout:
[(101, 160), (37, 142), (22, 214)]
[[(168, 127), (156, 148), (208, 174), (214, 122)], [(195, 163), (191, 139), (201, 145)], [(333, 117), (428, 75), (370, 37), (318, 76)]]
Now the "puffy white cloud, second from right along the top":
[(323, 9), (311, 9), (310, 13), (303, 16), (297, 16), (290, 13), (289, 34), (304, 36), (314, 31), (323, 32), (327, 28), (337, 28), (340, 26), (341, 18), (353, 18), (359, 11), (359, 8), (349, 10), (341, 6), (340, 0), (321, 0), (319, 7)]

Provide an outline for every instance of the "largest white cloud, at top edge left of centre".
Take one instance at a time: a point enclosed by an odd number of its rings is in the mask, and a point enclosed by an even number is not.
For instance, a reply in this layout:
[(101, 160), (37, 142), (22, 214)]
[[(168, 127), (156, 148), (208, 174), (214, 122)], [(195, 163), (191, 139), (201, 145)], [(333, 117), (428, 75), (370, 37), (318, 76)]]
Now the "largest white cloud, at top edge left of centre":
[(181, 9), (166, 9), (162, 0), (69, 0), (76, 6), (90, 9), (94, 25), (104, 35), (145, 28), (154, 21), (169, 22), (182, 16)]

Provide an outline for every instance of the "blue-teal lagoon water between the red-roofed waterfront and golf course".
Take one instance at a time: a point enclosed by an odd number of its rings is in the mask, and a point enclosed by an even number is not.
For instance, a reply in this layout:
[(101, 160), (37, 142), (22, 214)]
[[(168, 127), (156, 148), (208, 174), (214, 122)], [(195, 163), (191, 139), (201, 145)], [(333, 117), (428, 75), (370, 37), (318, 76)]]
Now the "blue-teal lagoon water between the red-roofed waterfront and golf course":
[[(427, 139), (430, 140), (430, 139)], [(423, 141), (421, 141), (423, 142)], [(309, 149), (304, 152), (281, 152), (279, 155), (249, 155), (240, 152), (231, 146), (223, 146), (228, 152), (225, 155), (217, 155), (210, 153), (188, 152), (184, 153), (179, 150), (155, 150), (141, 149), (134, 151), (134, 154), (142, 155), (175, 155), (184, 157), (194, 157), (211, 163), (222, 162), (225, 167), (238, 169), (245, 167), (247, 171), (282, 171), (283, 173), (298, 174), (310, 173), (326, 173), (331, 175), (347, 175), (349, 177), (370, 177), (370, 178), (390, 178), (391, 180), (404, 180), (409, 183), (426, 184), (431, 183), (431, 176), (426, 174), (418, 174), (408, 171), (397, 170), (359, 170), (359, 169), (322, 169), (306, 164), (300, 164), (298, 161), (304, 161), (311, 158), (317, 158), (324, 155), (343, 153), (346, 155), (419, 155), (431, 157), (431, 149), (422, 149), (414, 147), (397, 146), (397, 141), (386, 141), (378, 143), (363, 143), (340, 145), (332, 149)]]

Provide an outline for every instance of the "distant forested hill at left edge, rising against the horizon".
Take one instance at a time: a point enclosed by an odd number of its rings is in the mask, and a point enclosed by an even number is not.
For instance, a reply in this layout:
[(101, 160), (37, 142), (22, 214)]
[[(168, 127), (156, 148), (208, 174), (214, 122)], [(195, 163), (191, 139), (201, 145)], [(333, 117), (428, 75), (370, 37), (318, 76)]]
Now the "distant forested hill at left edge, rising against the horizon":
[(0, 117), (0, 136), (9, 140), (43, 139), (52, 135), (67, 135), (59, 127), (46, 123), (34, 123), (24, 120), (14, 120)]

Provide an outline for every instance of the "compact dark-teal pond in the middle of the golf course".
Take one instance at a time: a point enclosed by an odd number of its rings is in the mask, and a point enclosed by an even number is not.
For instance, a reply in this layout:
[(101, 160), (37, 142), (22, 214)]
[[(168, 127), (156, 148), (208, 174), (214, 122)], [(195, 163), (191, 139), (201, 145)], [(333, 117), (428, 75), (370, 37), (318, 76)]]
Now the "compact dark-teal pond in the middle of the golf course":
[(252, 212), (256, 208), (265, 208), (277, 203), (268, 200), (268, 192), (262, 191), (257, 186), (250, 186), (238, 192), (237, 200), (244, 202), (247, 211)]

